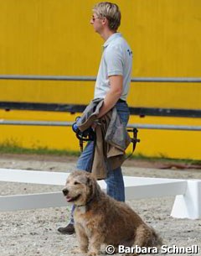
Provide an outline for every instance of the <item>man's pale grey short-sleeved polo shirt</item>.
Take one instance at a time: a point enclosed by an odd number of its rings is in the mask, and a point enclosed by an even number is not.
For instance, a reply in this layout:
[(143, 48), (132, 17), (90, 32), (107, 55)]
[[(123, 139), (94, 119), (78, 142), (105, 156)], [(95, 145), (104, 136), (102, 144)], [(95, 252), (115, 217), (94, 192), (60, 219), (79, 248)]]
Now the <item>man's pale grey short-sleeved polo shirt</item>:
[(106, 97), (110, 90), (109, 76), (123, 76), (123, 91), (121, 100), (126, 97), (131, 82), (132, 52), (126, 40), (120, 33), (112, 34), (103, 45), (103, 54), (98, 76), (95, 82), (94, 98)]

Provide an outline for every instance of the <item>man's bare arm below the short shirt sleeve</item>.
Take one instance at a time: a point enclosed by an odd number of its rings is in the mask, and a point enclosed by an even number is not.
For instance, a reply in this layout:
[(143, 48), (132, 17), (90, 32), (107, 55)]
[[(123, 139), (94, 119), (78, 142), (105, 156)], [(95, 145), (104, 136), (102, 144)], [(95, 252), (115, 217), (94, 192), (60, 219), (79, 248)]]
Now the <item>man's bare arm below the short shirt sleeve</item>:
[(119, 100), (123, 90), (123, 76), (109, 76), (110, 81), (110, 91), (107, 92), (106, 97), (103, 102), (103, 106), (101, 107), (101, 111), (99, 112), (98, 118), (101, 118), (109, 112), (112, 107), (116, 105), (116, 102)]

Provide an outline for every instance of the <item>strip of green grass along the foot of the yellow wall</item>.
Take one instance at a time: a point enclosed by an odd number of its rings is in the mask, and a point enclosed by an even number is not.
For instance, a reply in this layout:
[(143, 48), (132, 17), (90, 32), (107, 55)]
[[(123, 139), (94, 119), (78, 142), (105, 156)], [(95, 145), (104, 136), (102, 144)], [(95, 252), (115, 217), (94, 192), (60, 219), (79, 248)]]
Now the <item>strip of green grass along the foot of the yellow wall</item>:
[[(55, 155), (55, 156), (79, 156), (80, 151), (69, 151), (65, 149), (48, 149), (48, 148), (23, 148), (16, 143), (7, 142), (4, 144), (0, 144), (0, 154), (39, 154), (39, 155)], [(132, 154), (131, 159), (141, 159), (141, 160), (149, 160), (149, 161), (169, 161), (169, 162), (177, 162), (184, 163), (189, 165), (201, 165), (201, 159), (172, 159), (168, 158), (165, 155), (160, 155), (156, 157), (148, 157), (143, 154)]]

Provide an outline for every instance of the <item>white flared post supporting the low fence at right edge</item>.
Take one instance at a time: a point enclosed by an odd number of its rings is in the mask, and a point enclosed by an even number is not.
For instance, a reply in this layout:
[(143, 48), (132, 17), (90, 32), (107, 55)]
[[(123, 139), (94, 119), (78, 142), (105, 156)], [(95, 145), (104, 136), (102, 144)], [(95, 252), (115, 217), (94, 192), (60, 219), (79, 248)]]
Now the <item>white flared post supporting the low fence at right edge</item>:
[(201, 180), (187, 180), (187, 190), (176, 196), (171, 216), (193, 220), (201, 217)]

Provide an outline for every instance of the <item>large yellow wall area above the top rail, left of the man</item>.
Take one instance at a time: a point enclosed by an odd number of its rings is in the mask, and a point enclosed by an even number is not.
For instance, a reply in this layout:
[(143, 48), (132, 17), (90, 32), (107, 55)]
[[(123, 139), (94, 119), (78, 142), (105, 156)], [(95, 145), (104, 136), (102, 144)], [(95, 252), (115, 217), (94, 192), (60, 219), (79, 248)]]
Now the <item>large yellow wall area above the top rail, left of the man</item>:
[(90, 26), (94, 3), (80, 0), (1, 1), (1, 72), (94, 75), (101, 56), (101, 39)]

